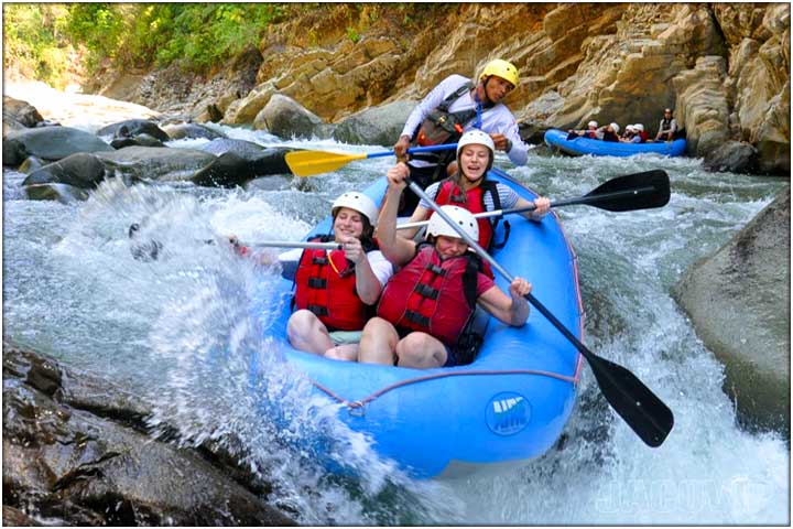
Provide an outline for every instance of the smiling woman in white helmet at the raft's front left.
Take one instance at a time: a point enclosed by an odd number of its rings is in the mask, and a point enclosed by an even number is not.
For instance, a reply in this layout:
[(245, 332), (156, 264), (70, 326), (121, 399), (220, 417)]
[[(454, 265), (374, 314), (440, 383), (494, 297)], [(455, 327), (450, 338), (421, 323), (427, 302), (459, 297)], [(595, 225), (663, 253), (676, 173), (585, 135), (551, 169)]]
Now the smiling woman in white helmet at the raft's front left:
[[(295, 249), (278, 256), (282, 276), (294, 277), (295, 312), (286, 323), (293, 347), (327, 358), (357, 357), (361, 330), (373, 313), (393, 267), (373, 238), (378, 208), (363, 193), (345, 193), (333, 203), (333, 234), (313, 241), (335, 241), (340, 250)], [(246, 247), (230, 242), (240, 255)], [(273, 257), (259, 256), (267, 264)]]

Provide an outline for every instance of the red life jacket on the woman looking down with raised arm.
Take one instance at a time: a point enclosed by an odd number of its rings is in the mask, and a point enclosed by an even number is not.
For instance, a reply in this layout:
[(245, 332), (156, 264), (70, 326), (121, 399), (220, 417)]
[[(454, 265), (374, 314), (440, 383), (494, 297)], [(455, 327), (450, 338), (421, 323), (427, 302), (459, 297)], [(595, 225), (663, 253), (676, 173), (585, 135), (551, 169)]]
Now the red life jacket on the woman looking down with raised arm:
[(427, 333), (454, 346), (476, 309), (476, 255), (441, 259), (430, 245), (393, 274), (380, 298), (378, 316), (395, 326)]

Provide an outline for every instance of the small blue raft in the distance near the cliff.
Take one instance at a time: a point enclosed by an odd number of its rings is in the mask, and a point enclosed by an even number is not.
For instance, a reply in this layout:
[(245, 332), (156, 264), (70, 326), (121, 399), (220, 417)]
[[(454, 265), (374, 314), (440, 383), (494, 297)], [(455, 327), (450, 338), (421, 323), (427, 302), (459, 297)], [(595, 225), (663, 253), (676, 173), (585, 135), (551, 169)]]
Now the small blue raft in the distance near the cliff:
[(632, 156), (636, 154), (659, 154), (661, 156), (682, 156), (685, 153), (686, 140), (652, 143), (621, 143), (600, 141), (590, 138), (567, 139), (567, 132), (550, 129), (545, 132), (545, 143), (565, 154), (582, 156)]

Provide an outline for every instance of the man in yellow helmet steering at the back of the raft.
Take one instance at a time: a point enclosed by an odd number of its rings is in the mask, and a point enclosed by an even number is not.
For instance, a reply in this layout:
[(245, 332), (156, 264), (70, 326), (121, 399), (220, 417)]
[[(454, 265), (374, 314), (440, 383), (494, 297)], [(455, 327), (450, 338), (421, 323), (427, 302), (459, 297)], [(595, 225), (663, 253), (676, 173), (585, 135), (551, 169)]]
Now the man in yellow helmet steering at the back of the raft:
[[(442, 80), (413, 109), (402, 133), (393, 147), (399, 160), (411, 145), (456, 143), (463, 132), (477, 128), (489, 133), (500, 151), (515, 165), (525, 165), (529, 147), (518, 133), (518, 123), (509, 108), (501, 102), (518, 86), (518, 68), (502, 60), (485, 65), (475, 85), (471, 79), (453, 74)], [(445, 179), (454, 151), (412, 154), (408, 165), (411, 179), (422, 188)], [(405, 194), (401, 215), (413, 213), (419, 198)]]

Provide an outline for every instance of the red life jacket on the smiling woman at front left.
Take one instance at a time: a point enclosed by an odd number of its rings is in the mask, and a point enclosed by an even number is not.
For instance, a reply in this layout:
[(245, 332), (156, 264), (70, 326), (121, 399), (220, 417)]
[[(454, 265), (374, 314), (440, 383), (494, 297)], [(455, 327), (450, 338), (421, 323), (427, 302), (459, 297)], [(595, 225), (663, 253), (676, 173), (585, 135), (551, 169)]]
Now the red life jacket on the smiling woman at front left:
[[(333, 239), (325, 236), (313, 240)], [(344, 250), (304, 250), (294, 281), (296, 309), (312, 311), (329, 331), (363, 328), (368, 306), (358, 296), (355, 266)]]

